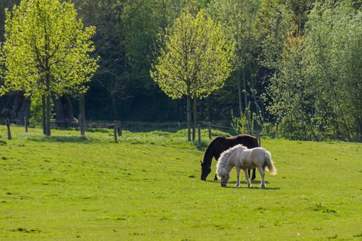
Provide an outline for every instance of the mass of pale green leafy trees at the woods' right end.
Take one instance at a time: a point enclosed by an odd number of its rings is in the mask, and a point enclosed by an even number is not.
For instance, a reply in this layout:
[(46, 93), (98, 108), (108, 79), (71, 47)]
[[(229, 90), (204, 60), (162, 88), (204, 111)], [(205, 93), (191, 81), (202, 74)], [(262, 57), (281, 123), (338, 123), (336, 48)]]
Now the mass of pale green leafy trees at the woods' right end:
[(305, 13), (292, 16), (306, 27), (295, 24), (285, 35), (280, 57), (268, 65), (275, 70), (268, 110), (279, 135), (361, 139), (361, 58), (355, 54), (361, 52), (361, 11), (349, 1), (326, 2), (316, 3), (308, 21)]

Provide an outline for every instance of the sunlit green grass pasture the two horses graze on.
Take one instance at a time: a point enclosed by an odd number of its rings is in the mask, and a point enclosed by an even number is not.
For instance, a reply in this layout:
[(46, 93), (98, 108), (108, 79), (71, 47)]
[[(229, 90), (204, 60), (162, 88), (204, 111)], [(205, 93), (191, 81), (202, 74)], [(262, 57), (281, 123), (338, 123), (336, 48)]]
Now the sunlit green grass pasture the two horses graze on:
[(362, 240), (361, 144), (262, 140), (278, 174), (247, 189), (201, 181), (184, 131), (0, 132), (0, 240)]

